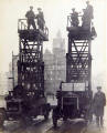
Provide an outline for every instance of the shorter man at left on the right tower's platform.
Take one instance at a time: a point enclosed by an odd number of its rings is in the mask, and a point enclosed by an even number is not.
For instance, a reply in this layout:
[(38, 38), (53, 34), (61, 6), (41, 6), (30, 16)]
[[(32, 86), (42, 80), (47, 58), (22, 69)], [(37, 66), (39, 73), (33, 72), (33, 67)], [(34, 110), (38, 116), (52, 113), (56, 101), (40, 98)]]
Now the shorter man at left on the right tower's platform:
[(72, 19), (72, 25), (73, 27), (78, 27), (78, 13), (75, 11), (75, 8), (72, 9), (73, 13), (71, 16), (71, 19)]

